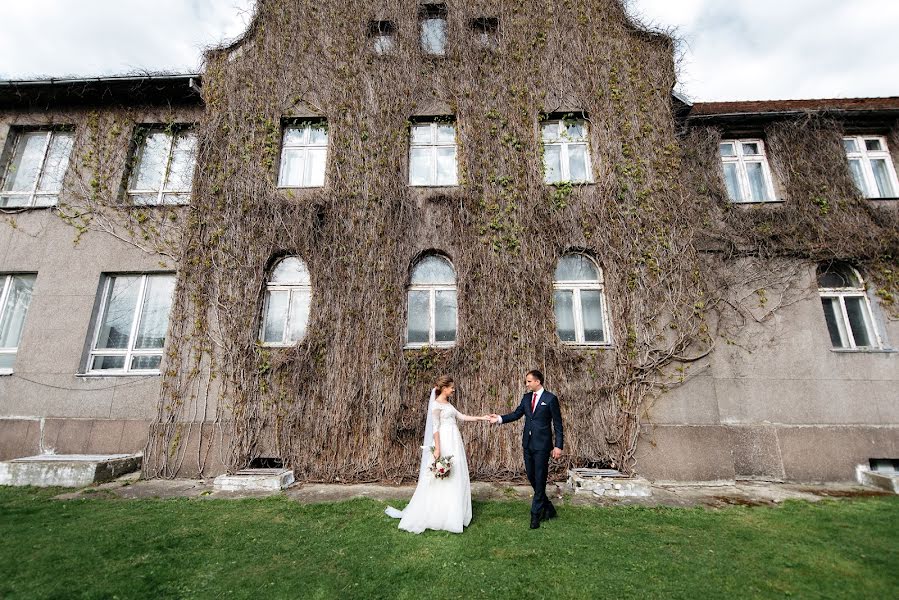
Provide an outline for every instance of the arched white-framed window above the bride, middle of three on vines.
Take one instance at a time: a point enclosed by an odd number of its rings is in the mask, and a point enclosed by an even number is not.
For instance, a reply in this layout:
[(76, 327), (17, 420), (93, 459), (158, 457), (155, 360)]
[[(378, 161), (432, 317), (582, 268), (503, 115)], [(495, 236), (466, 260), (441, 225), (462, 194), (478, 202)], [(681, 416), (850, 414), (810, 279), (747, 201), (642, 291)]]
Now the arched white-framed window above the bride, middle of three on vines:
[(452, 346), (456, 341), (456, 272), (442, 256), (426, 256), (412, 268), (407, 297), (406, 345)]

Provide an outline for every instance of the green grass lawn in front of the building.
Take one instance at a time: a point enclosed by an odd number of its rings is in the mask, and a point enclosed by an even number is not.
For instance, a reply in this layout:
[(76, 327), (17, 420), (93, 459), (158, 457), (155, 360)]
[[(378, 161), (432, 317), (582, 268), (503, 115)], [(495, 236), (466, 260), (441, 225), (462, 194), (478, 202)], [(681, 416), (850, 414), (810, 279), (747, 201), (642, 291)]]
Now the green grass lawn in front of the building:
[(895, 598), (899, 498), (778, 507), (478, 502), (462, 535), (384, 504), (56, 501), (0, 488), (0, 598)]

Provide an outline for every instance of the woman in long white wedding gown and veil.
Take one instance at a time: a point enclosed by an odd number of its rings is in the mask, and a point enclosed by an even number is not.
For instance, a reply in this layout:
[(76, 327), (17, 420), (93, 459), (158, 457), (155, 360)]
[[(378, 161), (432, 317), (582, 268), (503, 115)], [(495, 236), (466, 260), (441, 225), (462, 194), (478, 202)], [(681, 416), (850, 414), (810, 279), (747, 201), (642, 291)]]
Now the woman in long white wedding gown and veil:
[[(456, 425), (461, 421), (486, 421), (488, 417), (463, 415), (450, 404), (456, 392), (453, 378), (443, 375), (431, 390), (428, 418), (425, 424), (425, 443), (422, 446), (418, 485), (412, 500), (403, 510), (388, 506), (385, 511), (400, 519), (399, 528), (421, 533), (425, 529), (443, 529), (462, 533), (471, 522), (471, 481), (468, 479), (468, 460), (462, 434)], [(433, 446), (433, 451), (431, 450)], [(452, 457), (450, 473), (438, 479), (431, 473), (431, 463), (441, 456)]]

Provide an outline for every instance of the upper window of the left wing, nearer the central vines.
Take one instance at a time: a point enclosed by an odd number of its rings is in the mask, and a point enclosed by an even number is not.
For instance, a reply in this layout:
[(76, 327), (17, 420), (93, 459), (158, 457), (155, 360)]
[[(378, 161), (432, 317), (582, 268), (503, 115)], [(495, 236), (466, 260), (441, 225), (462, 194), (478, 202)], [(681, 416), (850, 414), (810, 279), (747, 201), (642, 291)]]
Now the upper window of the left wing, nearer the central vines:
[(187, 128), (141, 128), (128, 182), (135, 206), (187, 204), (193, 186), (197, 136)]

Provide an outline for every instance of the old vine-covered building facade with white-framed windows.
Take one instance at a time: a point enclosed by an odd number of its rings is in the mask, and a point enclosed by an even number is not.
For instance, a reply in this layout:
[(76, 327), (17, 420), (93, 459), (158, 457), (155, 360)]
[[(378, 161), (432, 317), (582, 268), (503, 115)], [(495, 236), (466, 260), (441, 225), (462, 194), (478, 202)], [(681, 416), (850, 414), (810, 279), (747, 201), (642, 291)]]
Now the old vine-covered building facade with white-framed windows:
[(559, 470), (896, 460), (899, 99), (690, 104), (672, 51), (614, 0), (264, 0), (201, 75), (0, 83), (0, 459), (395, 480), (433, 377), (540, 368)]

